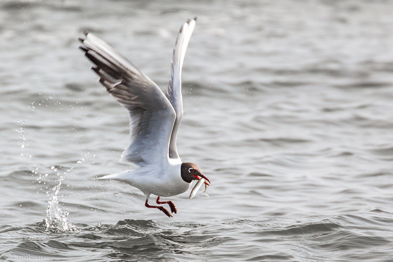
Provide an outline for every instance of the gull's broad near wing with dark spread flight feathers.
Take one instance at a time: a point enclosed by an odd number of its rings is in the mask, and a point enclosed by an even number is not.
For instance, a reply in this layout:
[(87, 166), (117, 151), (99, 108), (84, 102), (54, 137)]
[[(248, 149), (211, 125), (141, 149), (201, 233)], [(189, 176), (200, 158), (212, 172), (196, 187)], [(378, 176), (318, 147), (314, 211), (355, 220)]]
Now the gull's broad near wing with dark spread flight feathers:
[(136, 165), (162, 165), (168, 161), (169, 139), (176, 113), (161, 89), (114, 48), (92, 33), (85, 33), (80, 48), (92, 70), (130, 113), (130, 140), (121, 155)]

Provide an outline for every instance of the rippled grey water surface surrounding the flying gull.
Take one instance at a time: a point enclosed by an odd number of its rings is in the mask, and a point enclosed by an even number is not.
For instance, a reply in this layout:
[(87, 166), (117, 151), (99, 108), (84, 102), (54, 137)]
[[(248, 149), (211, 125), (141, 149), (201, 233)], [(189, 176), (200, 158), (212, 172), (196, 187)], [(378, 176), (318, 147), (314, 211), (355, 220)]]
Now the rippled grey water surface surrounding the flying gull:
[[(392, 261), (392, 11), (0, 1), (0, 259)], [(91, 180), (129, 168), (118, 162), (129, 123), (76, 39), (95, 33), (164, 89), (178, 29), (195, 15), (178, 150), (209, 177), (210, 198), (171, 197), (179, 211), (167, 218), (138, 189)], [(68, 231), (45, 223), (62, 174)]]

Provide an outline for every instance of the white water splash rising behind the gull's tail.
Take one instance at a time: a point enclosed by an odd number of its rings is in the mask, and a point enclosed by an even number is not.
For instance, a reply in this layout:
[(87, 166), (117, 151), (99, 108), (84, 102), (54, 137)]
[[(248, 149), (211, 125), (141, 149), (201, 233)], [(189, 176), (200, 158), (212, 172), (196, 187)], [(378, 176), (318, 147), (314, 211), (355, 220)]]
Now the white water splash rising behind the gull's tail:
[[(53, 166), (51, 169), (57, 171), (57, 169)], [(59, 207), (59, 200), (57, 200), (57, 194), (61, 189), (61, 182), (64, 180), (64, 177), (68, 171), (73, 169), (71, 166), (70, 169), (66, 170), (60, 177), (59, 177), (59, 184), (52, 188), (52, 191), (55, 191), (51, 194), (51, 198), (48, 200), (48, 208), (46, 209), (46, 229), (51, 231), (66, 231), (66, 230), (74, 230), (75, 227), (67, 221), (67, 216), (69, 214), (68, 211), (62, 211), (61, 207)], [(59, 176), (60, 173), (57, 173)], [(49, 196), (49, 191), (46, 192)]]

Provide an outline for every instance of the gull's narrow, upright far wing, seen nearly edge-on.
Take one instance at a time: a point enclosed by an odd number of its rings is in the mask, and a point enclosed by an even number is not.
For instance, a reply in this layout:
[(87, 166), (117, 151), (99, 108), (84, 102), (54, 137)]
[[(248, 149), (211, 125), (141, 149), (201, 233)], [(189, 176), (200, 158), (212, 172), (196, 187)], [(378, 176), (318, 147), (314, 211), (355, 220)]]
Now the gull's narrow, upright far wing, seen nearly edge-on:
[(173, 49), (173, 60), (171, 67), (171, 79), (169, 80), (167, 98), (171, 102), (174, 111), (176, 112), (176, 120), (174, 122), (171, 141), (169, 143), (169, 158), (179, 158), (176, 149), (176, 136), (180, 126), (180, 121), (183, 117), (183, 102), (182, 102), (182, 66), (187, 51), (188, 42), (193, 34), (196, 24), (196, 16), (192, 20), (187, 20), (182, 27), (180, 27), (177, 35), (176, 44)]

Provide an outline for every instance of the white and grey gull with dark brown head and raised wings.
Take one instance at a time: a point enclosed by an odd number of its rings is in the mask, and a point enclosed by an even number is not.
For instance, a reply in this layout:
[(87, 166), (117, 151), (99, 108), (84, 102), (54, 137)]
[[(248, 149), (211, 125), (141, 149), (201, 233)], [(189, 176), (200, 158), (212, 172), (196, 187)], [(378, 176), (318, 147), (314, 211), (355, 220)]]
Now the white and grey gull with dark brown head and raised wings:
[[(160, 201), (160, 197), (186, 192), (193, 180), (204, 178), (206, 185), (210, 182), (197, 165), (183, 163), (176, 149), (176, 136), (183, 116), (182, 66), (195, 25), (196, 17), (180, 27), (165, 94), (100, 38), (88, 32), (84, 32), (85, 37), (78, 38), (82, 43), (79, 48), (94, 64), (92, 70), (99, 75), (99, 82), (129, 110), (130, 116), (130, 145), (120, 161), (132, 163), (137, 168), (99, 179), (118, 180), (140, 189), (146, 196), (146, 207), (159, 209), (169, 217), (177, 213), (177, 208), (172, 201)], [(151, 194), (157, 196), (157, 204), (168, 204), (171, 213), (163, 206), (149, 205)]]

